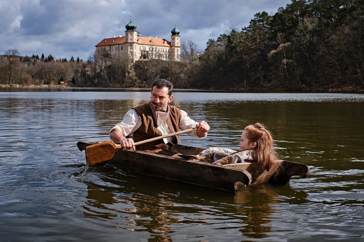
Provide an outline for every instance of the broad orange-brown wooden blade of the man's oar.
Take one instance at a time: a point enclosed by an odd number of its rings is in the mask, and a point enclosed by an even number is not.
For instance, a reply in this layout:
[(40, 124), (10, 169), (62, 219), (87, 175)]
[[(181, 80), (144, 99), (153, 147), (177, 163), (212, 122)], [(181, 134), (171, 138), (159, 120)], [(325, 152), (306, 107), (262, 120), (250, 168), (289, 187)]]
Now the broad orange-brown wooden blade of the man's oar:
[(105, 141), (86, 147), (86, 163), (87, 165), (98, 164), (110, 160), (115, 152), (119, 150), (112, 141)]

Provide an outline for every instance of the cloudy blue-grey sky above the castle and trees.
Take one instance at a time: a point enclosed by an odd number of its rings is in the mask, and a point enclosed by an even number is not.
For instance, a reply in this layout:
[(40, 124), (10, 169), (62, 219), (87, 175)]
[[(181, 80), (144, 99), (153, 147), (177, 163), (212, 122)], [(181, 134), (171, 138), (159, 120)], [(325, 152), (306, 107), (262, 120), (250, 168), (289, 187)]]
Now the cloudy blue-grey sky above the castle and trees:
[[(224, 3), (226, 2), (226, 3)], [(137, 25), (143, 36), (170, 41), (174, 22), (181, 42), (200, 49), (232, 27), (249, 25), (255, 13), (274, 14), (290, 0), (0, 0), (0, 54), (19, 50), (55, 58), (87, 60), (103, 38), (125, 35)]]

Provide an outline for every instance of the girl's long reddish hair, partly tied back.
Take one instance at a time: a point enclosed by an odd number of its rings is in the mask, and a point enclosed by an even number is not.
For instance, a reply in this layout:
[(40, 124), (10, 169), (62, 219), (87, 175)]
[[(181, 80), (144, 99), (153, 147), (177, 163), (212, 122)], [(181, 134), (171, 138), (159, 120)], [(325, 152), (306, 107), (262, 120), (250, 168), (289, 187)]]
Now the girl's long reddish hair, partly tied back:
[(272, 134), (267, 130), (263, 124), (256, 123), (245, 127), (244, 131), (248, 134), (246, 137), (250, 142), (256, 142), (257, 145), (254, 148), (256, 151), (257, 164), (269, 171), (273, 162), (278, 159), (276, 151), (273, 149)]

